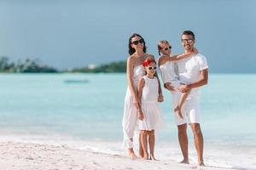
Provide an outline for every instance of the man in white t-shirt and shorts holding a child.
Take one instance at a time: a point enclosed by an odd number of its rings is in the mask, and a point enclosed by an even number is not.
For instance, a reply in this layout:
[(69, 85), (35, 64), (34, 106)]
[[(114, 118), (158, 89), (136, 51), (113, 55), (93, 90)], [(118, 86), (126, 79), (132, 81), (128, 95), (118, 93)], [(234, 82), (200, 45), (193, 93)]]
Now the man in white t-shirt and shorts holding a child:
[[(195, 44), (195, 34), (192, 31), (183, 31), (181, 40), (184, 53), (187, 54), (191, 52)], [(184, 82), (184, 84), (177, 88), (177, 90), (184, 93), (191, 89), (191, 93), (182, 107), (183, 118), (175, 115), (178, 129), (178, 140), (183, 153), (183, 161), (181, 162), (189, 163), (187, 135), (187, 123), (189, 123), (194, 134), (198, 163), (200, 166), (204, 166), (203, 135), (200, 127), (199, 87), (206, 85), (208, 82), (207, 59), (201, 54), (194, 54), (187, 59), (177, 61), (177, 68), (180, 82)], [(177, 103), (177, 101), (178, 97), (173, 103)]]

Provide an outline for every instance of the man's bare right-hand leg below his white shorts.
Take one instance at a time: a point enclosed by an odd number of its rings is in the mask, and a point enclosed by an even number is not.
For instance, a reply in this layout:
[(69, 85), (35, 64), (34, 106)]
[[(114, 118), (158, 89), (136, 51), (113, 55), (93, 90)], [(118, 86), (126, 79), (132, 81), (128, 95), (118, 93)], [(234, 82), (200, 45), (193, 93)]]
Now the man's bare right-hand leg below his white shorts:
[(201, 133), (200, 124), (191, 123), (190, 127), (194, 134), (194, 142), (195, 142), (195, 149), (197, 151), (197, 156), (198, 156), (198, 164), (200, 166), (205, 166), (204, 160), (203, 160), (204, 139)]

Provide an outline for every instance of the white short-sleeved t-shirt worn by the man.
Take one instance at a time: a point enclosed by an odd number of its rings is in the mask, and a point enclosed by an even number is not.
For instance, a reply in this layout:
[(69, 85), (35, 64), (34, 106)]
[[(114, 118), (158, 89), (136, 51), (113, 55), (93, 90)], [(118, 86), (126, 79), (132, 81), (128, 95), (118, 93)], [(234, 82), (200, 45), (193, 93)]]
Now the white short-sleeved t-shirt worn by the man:
[[(208, 68), (207, 59), (202, 54), (191, 55), (187, 59), (177, 61), (179, 79), (181, 82), (191, 84), (200, 79), (200, 71)], [(198, 95), (198, 88), (193, 88), (191, 95)]]

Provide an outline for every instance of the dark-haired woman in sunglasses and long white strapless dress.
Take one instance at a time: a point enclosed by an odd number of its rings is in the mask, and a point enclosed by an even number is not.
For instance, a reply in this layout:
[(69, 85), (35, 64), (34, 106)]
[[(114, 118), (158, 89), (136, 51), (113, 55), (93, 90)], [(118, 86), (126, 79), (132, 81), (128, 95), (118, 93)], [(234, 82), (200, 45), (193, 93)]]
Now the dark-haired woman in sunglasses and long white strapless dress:
[[(128, 149), (128, 154), (131, 159), (136, 159), (137, 156), (133, 150), (133, 136), (137, 127), (137, 111), (139, 111), (140, 103), (137, 95), (137, 82), (145, 76), (143, 61), (146, 58), (154, 59), (154, 55), (146, 54), (146, 44), (143, 37), (134, 33), (129, 38), (129, 54), (126, 65), (126, 78), (128, 88), (125, 95), (125, 107), (123, 117), (123, 145)], [(159, 82), (160, 83), (160, 82)], [(161, 89), (159, 90), (160, 99), (163, 100)], [(139, 138), (140, 139), (140, 138)], [(143, 157), (143, 150), (140, 142), (140, 156)]]

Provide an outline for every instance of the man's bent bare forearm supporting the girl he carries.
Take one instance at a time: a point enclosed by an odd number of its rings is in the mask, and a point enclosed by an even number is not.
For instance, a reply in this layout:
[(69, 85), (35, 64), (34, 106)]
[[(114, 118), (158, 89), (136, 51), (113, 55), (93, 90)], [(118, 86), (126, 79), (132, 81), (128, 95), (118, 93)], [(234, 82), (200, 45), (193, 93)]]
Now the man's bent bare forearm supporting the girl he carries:
[(177, 90), (181, 93), (187, 92), (191, 88), (199, 88), (203, 85), (206, 85), (208, 83), (208, 69), (200, 71), (201, 79), (198, 82), (194, 82), (192, 84), (188, 85), (182, 85)]

